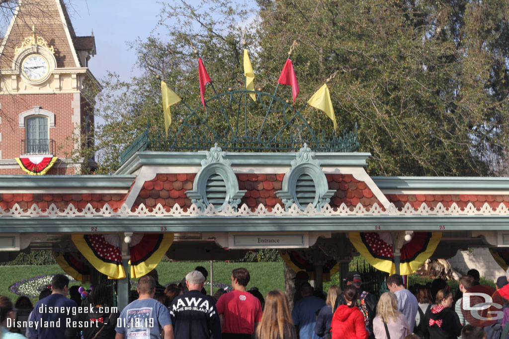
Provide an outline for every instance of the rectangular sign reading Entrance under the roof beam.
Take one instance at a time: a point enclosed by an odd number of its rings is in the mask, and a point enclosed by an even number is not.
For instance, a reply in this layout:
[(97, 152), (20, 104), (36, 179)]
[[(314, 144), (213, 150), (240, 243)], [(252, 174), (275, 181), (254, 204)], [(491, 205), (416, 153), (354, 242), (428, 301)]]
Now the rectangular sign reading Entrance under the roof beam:
[(230, 234), (230, 248), (307, 248), (307, 232), (290, 234)]

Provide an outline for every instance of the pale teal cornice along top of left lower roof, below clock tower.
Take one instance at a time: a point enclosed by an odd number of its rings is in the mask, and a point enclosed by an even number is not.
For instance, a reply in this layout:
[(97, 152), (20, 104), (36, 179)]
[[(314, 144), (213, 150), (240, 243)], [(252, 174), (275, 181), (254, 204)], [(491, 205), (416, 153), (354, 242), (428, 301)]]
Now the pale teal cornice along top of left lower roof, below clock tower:
[(0, 190), (46, 188), (127, 188), (135, 175), (0, 175)]

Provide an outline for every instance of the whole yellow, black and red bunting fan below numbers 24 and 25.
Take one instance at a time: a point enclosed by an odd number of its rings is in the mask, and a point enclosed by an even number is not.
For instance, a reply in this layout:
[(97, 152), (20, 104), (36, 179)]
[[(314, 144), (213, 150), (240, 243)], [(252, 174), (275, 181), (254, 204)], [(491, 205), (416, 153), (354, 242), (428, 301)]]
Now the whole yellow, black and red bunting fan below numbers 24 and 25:
[[(388, 234), (388, 233), (386, 233)], [(376, 269), (394, 274), (394, 252), (390, 234), (380, 236), (376, 232), (350, 232), (349, 238), (355, 249)], [(415, 272), (435, 252), (441, 232), (414, 232), (412, 240), (403, 244), (400, 253), (400, 274)]]

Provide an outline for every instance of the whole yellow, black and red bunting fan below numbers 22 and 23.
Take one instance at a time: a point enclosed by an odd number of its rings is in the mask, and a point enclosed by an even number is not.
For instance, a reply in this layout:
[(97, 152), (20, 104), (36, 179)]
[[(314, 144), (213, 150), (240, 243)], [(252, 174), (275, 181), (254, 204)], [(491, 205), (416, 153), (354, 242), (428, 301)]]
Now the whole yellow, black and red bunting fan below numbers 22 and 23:
[[(83, 257), (109, 279), (126, 277), (117, 234), (73, 234), (72, 241)], [(173, 234), (135, 234), (131, 241), (131, 278), (139, 278), (161, 262), (173, 243)]]

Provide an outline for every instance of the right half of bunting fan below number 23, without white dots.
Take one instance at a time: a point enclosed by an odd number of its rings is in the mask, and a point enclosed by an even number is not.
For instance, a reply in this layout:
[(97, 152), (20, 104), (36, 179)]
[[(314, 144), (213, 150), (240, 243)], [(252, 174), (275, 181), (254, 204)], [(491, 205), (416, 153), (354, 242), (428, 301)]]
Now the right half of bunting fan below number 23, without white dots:
[(136, 244), (131, 245), (131, 278), (139, 278), (156, 268), (173, 243), (173, 234), (144, 234)]

